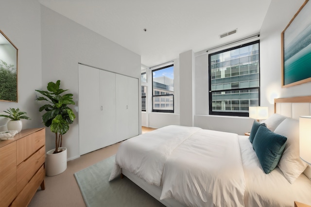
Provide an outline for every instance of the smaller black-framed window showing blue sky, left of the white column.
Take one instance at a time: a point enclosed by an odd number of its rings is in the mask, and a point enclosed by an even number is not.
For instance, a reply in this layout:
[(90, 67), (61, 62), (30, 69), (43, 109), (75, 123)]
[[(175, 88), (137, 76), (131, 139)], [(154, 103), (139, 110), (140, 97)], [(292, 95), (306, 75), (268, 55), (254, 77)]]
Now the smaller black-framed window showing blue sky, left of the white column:
[(152, 71), (152, 111), (174, 112), (174, 66)]

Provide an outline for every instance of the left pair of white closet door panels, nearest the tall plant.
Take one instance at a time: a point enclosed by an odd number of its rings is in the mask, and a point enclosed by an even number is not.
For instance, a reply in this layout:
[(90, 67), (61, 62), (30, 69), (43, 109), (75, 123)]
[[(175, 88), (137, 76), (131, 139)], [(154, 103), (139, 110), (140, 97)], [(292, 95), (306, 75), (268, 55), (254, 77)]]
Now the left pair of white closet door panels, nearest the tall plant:
[(79, 64), (80, 155), (116, 143), (115, 76)]

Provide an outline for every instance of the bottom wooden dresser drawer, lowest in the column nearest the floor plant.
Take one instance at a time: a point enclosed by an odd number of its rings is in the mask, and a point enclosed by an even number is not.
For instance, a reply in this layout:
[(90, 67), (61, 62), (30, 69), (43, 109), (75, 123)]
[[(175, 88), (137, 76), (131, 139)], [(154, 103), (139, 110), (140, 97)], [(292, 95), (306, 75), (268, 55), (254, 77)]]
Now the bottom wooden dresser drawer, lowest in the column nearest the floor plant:
[(27, 207), (30, 203), (32, 197), (35, 195), (35, 192), (38, 189), (38, 186), (42, 183), (45, 177), (45, 170), (43, 165), (40, 167), (35, 176), (27, 183), (25, 188), (20, 191), (16, 199), (12, 203), (12, 207)]

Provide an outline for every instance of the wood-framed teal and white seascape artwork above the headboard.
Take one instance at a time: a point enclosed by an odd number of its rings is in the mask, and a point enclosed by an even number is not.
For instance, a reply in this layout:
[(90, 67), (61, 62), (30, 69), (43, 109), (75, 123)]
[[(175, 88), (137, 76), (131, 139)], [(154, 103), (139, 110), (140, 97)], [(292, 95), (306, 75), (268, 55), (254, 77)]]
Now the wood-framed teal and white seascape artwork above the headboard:
[(311, 81), (311, 3), (308, 1), (281, 33), (282, 87)]

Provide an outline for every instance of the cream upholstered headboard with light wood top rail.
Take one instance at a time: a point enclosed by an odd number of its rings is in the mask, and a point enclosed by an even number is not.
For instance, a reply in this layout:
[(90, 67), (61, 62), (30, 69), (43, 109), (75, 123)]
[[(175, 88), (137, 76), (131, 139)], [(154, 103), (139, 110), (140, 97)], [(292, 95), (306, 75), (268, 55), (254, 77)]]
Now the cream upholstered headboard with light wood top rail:
[[(275, 98), (274, 112), (297, 120), (299, 120), (299, 116), (310, 116), (311, 96)], [(310, 165), (307, 167), (304, 174), (311, 179)]]

